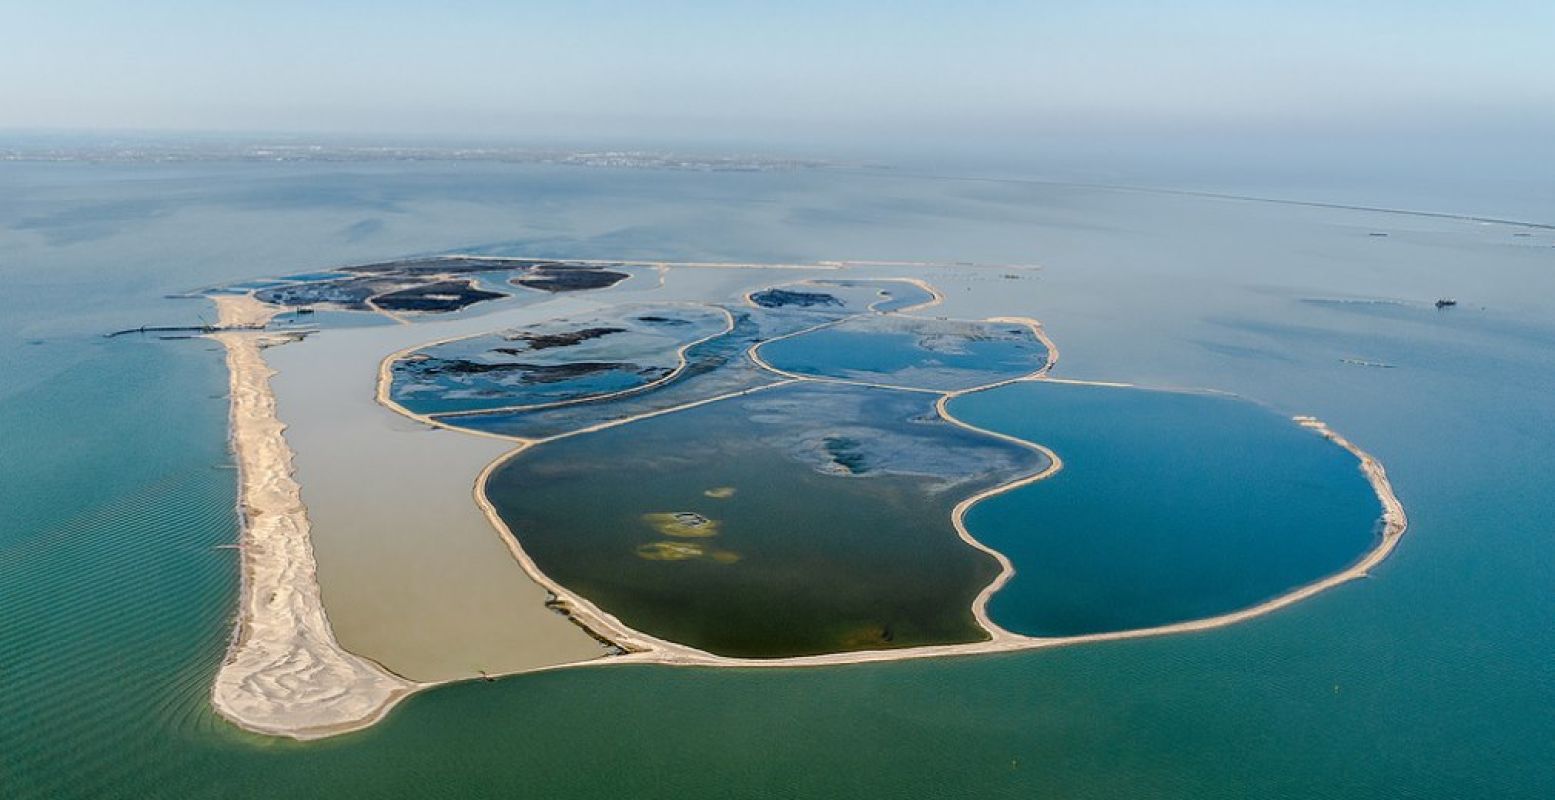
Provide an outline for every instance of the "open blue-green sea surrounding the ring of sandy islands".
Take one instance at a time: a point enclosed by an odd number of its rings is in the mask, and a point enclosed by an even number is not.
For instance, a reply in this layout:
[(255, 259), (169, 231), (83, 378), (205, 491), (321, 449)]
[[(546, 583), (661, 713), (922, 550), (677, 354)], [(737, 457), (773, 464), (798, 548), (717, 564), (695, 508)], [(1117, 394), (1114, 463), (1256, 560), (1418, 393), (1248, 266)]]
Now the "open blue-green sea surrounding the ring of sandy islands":
[[(5, 163), (0, 187), (6, 798), (1555, 795), (1555, 230), (882, 171)], [(1552, 221), (1519, 202), (1496, 215)], [(589, 668), (323, 742), (238, 732), (207, 702), (238, 587), (221, 353), (101, 333), (210, 319), (169, 293), (449, 249), (1040, 265), (1029, 308), (991, 271), (936, 313), (1043, 321), (1061, 377), (1317, 416), (1410, 528), (1370, 579), (1213, 632)]]

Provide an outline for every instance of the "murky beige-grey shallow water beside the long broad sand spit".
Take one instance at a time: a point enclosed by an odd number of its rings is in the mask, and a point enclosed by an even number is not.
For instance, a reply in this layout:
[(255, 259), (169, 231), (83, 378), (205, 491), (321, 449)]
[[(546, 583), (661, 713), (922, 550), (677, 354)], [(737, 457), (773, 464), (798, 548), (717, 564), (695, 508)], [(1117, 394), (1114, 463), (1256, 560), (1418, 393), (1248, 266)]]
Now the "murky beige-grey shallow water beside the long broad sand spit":
[(546, 590), (471, 498), (480, 470), (513, 444), (431, 430), (375, 402), (389, 353), (597, 307), (547, 297), (479, 316), (331, 328), (266, 352), (313, 520), (323, 607), (345, 649), (425, 682), (605, 654), (546, 607)]

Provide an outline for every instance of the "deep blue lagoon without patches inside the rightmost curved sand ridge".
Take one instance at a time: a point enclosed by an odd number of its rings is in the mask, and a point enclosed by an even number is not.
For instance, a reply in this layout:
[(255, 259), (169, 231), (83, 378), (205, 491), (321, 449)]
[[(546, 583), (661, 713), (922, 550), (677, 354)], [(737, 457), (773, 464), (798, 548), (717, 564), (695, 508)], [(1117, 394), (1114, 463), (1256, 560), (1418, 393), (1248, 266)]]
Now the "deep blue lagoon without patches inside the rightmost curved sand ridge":
[(1064, 459), (967, 512), (972, 535), (1015, 565), (989, 615), (1019, 633), (1246, 609), (1378, 543), (1381, 506), (1356, 458), (1239, 398), (1017, 383), (958, 397), (950, 412)]

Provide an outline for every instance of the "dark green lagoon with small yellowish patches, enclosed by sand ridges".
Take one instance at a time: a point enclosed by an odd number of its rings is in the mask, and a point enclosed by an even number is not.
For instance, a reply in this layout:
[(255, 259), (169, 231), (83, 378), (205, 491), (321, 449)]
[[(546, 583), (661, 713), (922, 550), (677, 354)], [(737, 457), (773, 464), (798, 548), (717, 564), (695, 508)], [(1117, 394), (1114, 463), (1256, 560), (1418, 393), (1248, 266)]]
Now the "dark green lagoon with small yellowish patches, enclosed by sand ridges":
[[(536, 447), (487, 496), (546, 574), (661, 638), (745, 657), (977, 641), (998, 565), (950, 509), (1043, 462), (931, 414), (930, 395), (779, 388)], [(644, 518), (667, 512), (715, 535)], [(666, 546), (703, 554), (644, 557)]]

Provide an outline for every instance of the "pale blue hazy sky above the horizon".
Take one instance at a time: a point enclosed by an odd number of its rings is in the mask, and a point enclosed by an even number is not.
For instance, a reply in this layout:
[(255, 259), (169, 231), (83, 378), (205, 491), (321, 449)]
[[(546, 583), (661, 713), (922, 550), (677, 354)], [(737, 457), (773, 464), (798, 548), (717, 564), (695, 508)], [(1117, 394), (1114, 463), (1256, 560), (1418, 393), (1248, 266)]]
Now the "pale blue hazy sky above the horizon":
[(0, 0), (0, 128), (1555, 134), (1555, 2)]

